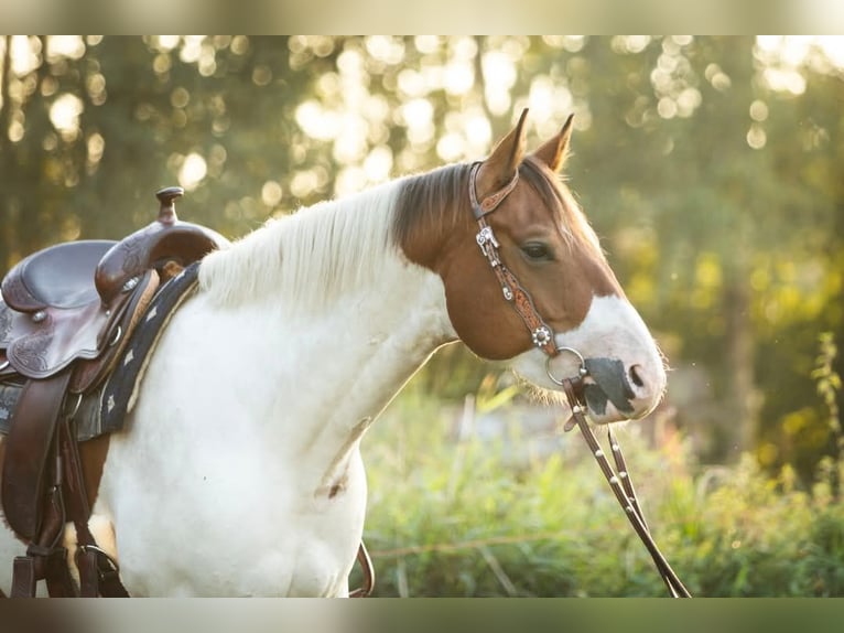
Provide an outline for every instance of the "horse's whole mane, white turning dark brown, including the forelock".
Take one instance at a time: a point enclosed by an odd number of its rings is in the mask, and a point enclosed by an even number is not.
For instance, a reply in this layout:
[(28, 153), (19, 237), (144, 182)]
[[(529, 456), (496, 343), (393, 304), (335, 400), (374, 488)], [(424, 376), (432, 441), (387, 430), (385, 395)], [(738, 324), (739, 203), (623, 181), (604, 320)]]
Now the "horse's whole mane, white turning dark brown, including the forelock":
[[(339, 292), (374, 279), (385, 257), (420, 237), (436, 238), (472, 218), (469, 163), (408, 175), (317, 203), (279, 218), (205, 257), (199, 288), (218, 304), (270, 293), (284, 304), (320, 309)], [(567, 187), (533, 159), (520, 175), (561, 218), (566, 239), (597, 238)]]

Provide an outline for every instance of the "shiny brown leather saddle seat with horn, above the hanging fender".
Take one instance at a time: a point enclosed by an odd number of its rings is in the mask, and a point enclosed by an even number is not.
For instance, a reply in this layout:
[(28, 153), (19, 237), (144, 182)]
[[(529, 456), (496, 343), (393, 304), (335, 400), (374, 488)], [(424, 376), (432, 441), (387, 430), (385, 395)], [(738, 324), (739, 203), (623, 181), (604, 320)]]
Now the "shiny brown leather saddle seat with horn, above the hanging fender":
[[(122, 323), (128, 305), (132, 312), (142, 310), (160, 280), (228, 245), (209, 228), (178, 221), (174, 201), (183, 193), (181, 187), (159, 191), (158, 219), (120, 242), (51, 246), (9, 271), (0, 286), (6, 303), (0, 302), (0, 365), (8, 361), (6, 372), (46, 378), (76, 358), (100, 357), (128, 334)], [(138, 301), (141, 294), (144, 300)], [(101, 374), (90, 367), (82, 373), (85, 379), (72, 385), (74, 393), (86, 390)]]

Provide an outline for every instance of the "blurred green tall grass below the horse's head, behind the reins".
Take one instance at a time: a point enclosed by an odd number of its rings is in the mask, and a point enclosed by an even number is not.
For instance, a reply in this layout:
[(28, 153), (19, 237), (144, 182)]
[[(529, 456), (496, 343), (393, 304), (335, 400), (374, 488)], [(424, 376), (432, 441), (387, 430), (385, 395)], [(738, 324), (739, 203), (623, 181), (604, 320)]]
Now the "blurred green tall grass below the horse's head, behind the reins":
[[(517, 459), (518, 423), (458, 438), (458, 418), (411, 384), (365, 440), (377, 596), (667, 594), (577, 431), (549, 438), (550, 455)], [(657, 543), (693, 594), (844, 596), (836, 461), (812, 486), (750, 457), (704, 468), (670, 429), (649, 447), (648, 423), (618, 437)]]

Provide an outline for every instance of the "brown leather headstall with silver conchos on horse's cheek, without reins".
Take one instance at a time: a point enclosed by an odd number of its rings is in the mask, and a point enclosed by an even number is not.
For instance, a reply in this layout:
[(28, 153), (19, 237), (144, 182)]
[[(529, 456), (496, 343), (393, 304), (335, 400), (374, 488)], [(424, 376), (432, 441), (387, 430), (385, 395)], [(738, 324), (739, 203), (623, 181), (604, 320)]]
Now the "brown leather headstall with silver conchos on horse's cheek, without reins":
[(469, 172), (469, 202), (472, 203), (472, 213), (480, 227), (475, 239), (480, 247), (480, 251), (489, 261), (489, 266), (493, 272), (495, 272), (498, 282), (501, 285), (504, 298), (513, 307), (528, 328), (533, 345), (542, 350), (549, 357), (556, 356), (560, 352), (554, 342), (554, 331), (540, 316), (528, 291), (501, 261), (498, 253), (500, 245), (493, 233), (493, 227), (486, 221), (486, 216), (498, 208), (498, 205), (516, 189), (516, 184), (519, 182), (519, 171), (516, 170), (510, 182), (478, 203), (476, 182), (479, 171), (480, 163), (476, 162), (472, 165), (472, 171)]

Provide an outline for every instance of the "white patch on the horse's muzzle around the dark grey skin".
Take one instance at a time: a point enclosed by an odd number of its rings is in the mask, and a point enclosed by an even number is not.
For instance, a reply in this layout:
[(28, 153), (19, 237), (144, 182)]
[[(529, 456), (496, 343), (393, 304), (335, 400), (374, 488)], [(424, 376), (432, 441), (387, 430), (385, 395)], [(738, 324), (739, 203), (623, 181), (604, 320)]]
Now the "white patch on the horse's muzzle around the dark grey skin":
[[(629, 301), (615, 296), (595, 297), (583, 322), (567, 332), (556, 333), (558, 347), (576, 350), (587, 361), (603, 358), (620, 362), (624, 378), (632, 393), (632, 410), (619, 411), (612, 403), (606, 409), (589, 414), (595, 422), (612, 422), (641, 418), (659, 404), (666, 390), (666, 368), (653, 337)], [(531, 350), (513, 360), (513, 369), (534, 385), (552, 390), (562, 388), (548, 376), (547, 358), (539, 350)], [(580, 369), (575, 354), (561, 353), (550, 368), (558, 379), (574, 378)], [(589, 382), (589, 378), (586, 378)]]

